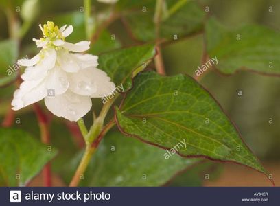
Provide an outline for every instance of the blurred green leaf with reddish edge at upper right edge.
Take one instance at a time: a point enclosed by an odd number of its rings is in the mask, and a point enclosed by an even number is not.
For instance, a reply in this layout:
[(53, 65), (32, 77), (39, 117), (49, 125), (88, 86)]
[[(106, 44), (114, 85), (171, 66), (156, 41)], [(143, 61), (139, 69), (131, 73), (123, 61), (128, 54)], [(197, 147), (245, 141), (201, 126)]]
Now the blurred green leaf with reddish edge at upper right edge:
[(234, 73), (239, 69), (280, 73), (278, 32), (261, 25), (230, 30), (212, 18), (207, 23), (206, 34), (209, 57), (217, 56), (215, 67), (222, 73)]

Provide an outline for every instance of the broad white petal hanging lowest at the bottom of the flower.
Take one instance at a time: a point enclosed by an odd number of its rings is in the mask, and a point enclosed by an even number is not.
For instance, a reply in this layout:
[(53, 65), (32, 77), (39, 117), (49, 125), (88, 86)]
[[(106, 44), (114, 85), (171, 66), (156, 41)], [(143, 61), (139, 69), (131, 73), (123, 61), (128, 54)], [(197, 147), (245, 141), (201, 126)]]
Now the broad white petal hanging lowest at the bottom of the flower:
[(84, 117), (92, 106), (89, 97), (76, 95), (71, 91), (55, 97), (46, 97), (45, 104), (51, 113), (70, 121), (78, 121), (78, 119)]

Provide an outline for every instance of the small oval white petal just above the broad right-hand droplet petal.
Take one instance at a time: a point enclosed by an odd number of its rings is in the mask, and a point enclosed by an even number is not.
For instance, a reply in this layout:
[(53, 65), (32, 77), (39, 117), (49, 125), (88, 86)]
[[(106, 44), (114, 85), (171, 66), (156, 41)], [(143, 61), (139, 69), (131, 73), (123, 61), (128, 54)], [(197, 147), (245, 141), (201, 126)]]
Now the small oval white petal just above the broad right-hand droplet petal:
[(58, 52), (58, 64), (60, 67), (67, 72), (77, 72), (80, 69), (76, 59), (71, 56), (68, 52), (60, 51)]

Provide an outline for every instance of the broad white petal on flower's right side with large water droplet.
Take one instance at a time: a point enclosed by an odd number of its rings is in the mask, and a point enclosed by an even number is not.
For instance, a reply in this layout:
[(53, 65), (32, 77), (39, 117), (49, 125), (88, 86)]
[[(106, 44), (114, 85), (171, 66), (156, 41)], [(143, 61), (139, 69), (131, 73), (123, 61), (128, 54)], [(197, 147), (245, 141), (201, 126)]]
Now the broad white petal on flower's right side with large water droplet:
[(80, 95), (90, 95), (93, 98), (102, 98), (115, 90), (115, 84), (110, 77), (97, 68), (86, 68), (77, 73), (68, 73), (70, 89)]

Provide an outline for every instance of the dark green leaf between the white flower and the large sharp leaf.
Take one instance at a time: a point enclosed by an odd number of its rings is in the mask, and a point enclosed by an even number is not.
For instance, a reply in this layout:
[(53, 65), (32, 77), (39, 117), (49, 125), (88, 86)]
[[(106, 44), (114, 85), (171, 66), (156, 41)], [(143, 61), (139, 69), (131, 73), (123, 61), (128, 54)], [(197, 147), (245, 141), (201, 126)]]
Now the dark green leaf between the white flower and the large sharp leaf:
[(135, 70), (139, 72), (145, 69), (146, 63), (154, 55), (154, 45), (150, 44), (117, 49), (100, 55), (98, 67), (105, 71), (117, 86), (124, 84), (126, 90), (132, 86), (131, 78), (135, 76)]

